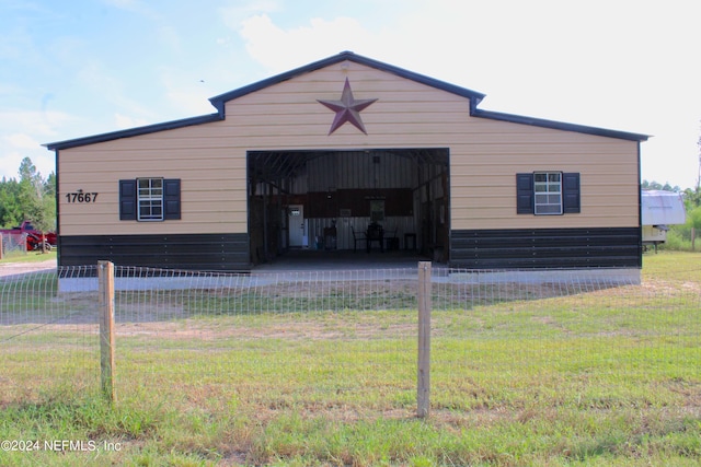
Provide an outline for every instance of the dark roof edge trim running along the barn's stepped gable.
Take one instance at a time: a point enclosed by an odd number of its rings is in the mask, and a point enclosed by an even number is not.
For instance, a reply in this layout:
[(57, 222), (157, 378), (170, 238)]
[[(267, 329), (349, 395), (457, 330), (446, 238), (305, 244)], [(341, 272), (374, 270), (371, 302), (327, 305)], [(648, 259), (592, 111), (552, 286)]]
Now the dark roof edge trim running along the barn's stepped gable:
[(575, 132), (582, 132), (582, 133), (598, 135), (602, 137), (624, 139), (630, 141), (646, 141), (648, 138), (647, 135), (631, 133), (625, 131), (609, 130), (605, 128), (588, 127), (584, 125), (565, 124), (562, 121), (526, 117), (520, 115), (482, 110), (478, 108), (478, 104), (485, 97), (485, 95), (482, 93), (469, 90), (467, 87), (457, 86), (455, 84), (436, 80), (434, 78), (415, 73), (415, 72), (405, 70), (403, 68), (394, 67), (378, 60), (374, 60), (371, 58), (367, 58), (367, 57), (354, 54), (352, 51), (342, 51), (341, 54), (334, 55), (332, 57), (329, 57), (319, 61), (314, 61), (312, 63), (296, 68), (285, 73), (276, 74), (265, 80), (257, 81), (253, 84), (239, 87), (238, 90), (214, 96), (209, 98), (209, 102), (211, 103), (211, 105), (214, 105), (215, 108), (217, 109), (217, 112), (214, 114), (184, 118), (180, 120), (165, 121), (162, 124), (148, 125), (143, 127), (130, 128), (127, 130), (93, 135), (90, 137), (77, 138), (77, 139), (66, 140), (66, 141), (51, 142), (51, 143), (46, 143), (44, 145), (49, 150), (60, 150), (60, 149), (94, 144), (97, 142), (111, 141), (111, 140), (116, 140), (120, 138), (129, 138), (138, 135), (147, 135), (147, 133), (152, 133), (157, 131), (172, 130), (175, 128), (182, 128), (182, 127), (188, 127), (193, 125), (202, 125), (202, 124), (208, 124), (211, 121), (223, 120), (226, 118), (225, 104), (229, 101), (260, 91), (273, 84), (281, 83), (284, 81), (290, 80), (300, 74), (309, 73), (309, 72), (319, 70), (321, 68), (325, 68), (331, 65), (338, 63), (345, 60), (365, 65), (367, 67), (386, 71), (386, 72), (395, 74), (398, 77), (405, 78), (407, 80), (416, 81), (418, 83), (426, 84), (428, 86), (433, 86), (452, 94), (457, 94), (462, 97), (467, 97), (470, 100), (470, 115), (473, 117), (489, 118), (489, 119), (502, 120), (502, 121), (512, 121), (515, 124), (532, 125), (537, 127), (554, 128), (554, 129), (564, 130), (564, 131), (575, 131)]

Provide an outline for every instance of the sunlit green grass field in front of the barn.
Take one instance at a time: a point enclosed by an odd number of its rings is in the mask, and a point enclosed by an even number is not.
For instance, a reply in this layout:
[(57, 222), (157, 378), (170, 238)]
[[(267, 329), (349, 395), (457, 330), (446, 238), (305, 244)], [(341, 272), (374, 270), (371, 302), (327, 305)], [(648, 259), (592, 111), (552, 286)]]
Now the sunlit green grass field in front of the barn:
[[(701, 464), (701, 255), (646, 255), (641, 285), (528, 292), (436, 306), (427, 419), (404, 288), (389, 302), (334, 291), (309, 313), (149, 297), (158, 319), (135, 308), (117, 328), (114, 406), (94, 324), (13, 318), (56, 302), (16, 296), (1, 302), (0, 439), (18, 451), (0, 465)], [(241, 301), (265, 312), (216, 312)]]

